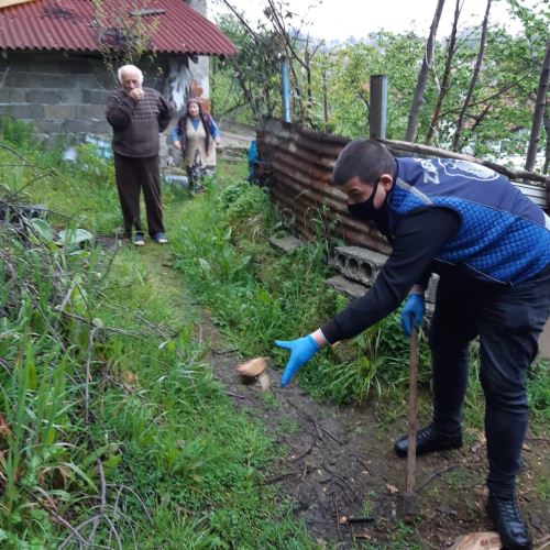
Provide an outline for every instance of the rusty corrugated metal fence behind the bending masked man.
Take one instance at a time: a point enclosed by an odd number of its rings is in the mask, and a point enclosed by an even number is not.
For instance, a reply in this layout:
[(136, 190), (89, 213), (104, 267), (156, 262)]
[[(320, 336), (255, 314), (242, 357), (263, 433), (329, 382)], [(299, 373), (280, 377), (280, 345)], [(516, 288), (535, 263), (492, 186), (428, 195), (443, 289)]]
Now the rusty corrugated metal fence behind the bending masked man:
[[(326, 238), (330, 232), (348, 245), (387, 254), (387, 241), (374, 228), (352, 218), (344, 195), (329, 185), (338, 154), (348, 142), (275, 119), (265, 120), (257, 130), (260, 158), (271, 165), (273, 197), (288, 224), (306, 240)], [(396, 156), (410, 155), (391, 142), (387, 146)], [(515, 185), (544, 207), (542, 186)]]

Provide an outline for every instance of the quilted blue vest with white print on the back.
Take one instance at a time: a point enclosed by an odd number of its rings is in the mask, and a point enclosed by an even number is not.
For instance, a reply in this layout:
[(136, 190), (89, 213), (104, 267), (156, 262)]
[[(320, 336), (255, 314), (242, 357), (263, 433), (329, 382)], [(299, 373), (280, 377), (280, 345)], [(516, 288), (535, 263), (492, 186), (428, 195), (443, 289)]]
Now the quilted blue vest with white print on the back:
[(550, 265), (550, 218), (505, 177), (451, 158), (397, 158), (389, 218), (443, 207), (461, 218), (436, 260), (474, 277), (516, 285)]

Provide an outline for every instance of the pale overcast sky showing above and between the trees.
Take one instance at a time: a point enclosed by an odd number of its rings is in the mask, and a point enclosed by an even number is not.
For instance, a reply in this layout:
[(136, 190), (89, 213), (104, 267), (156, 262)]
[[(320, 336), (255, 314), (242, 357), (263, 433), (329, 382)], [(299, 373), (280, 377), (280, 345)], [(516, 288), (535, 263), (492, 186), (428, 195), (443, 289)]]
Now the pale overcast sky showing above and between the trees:
[[(246, 20), (254, 22), (262, 19), (265, 0), (229, 0), (232, 6), (244, 12)], [(427, 35), (437, 0), (323, 0), (320, 6), (315, 0), (290, 0), (290, 10), (299, 16), (309, 13), (308, 26), (304, 32), (326, 41), (365, 37), (369, 33), (381, 29), (393, 32), (416, 31)], [(541, 1), (524, 0), (525, 4), (541, 6)], [(227, 12), (221, 0), (210, 0), (209, 16)], [(480, 25), (483, 21), (486, 2), (483, 0), (464, 0), (460, 26)], [(308, 12), (308, 6), (314, 6)], [(451, 31), (454, 13), (454, 1), (446, 2), (438, 28), (438, 36), (448, 35)], [(521, 25), (514, 21), (507, 12), (505, 0), (493, 0), (490, 21), (505, 24), (510, 33), (519, 32)], [(299, 26), (299, 19), (296, 21)]]

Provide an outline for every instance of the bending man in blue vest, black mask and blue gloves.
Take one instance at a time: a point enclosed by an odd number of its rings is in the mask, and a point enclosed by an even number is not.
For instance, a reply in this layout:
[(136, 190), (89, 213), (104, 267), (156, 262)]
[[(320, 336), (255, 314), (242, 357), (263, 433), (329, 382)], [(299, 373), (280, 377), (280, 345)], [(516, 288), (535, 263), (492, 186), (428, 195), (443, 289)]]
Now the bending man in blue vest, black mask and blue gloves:
[[(469, 344), (479, 337), (485, 394), (487, 513), (507, 549), (531, 540), (515, 497), (527, 430), (526, 374), (550, 314), (550, 218), (510, 182), (457, 160), (394, 158), (361, 140), (340, 153), (333, 183), (352, 216), (374, 221), (393, 245), (373, 287), (311, 334), (277, 341), (290, 358), (282, 377), (323, 345), (353, 338), (407, 297), (402, 326), (419, 326), (424, 290), (440, 276), (430, 327), (432, 422), (417, 433), (417, 454), (462, 446), (461, 408)], [(407, 439), (394, 447), (407, 455)]]

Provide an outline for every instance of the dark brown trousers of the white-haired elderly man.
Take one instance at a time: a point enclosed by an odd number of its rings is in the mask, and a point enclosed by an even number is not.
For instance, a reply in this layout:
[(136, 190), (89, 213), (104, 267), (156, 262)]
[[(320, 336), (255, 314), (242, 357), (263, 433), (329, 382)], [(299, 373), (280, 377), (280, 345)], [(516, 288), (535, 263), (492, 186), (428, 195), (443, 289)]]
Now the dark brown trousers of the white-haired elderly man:
[(140, 158), (114, 154), (114, 173), (125, 235), (131, 238), (133, 228), (142, 231), (141, 189), (145, 198), (148, 234), (164, 232), (158, 155)]

